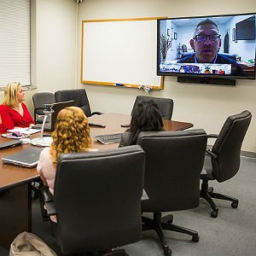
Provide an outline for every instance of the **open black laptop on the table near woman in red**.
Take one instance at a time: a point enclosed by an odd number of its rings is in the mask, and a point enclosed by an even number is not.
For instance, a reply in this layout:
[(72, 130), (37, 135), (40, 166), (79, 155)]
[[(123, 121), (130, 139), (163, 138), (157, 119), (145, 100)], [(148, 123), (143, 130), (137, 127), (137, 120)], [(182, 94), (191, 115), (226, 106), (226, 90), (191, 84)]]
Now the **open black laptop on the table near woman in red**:
[[(71, 106), (74, 106), (74, 101), (52, 103), (51, 109), (54, 110), (54, 113), (52, 113), (49, 116), (49, 122), (45, 123), (44, 131), (54, 131), (55, 130), (55, 122), (56, 122), (58, 113), (61, 111), (61, 109), (71, 107)], [(34, 125), (34, 126), (32, 126), (32, 128), (33, 129), (41, 129), (42, 124)]]

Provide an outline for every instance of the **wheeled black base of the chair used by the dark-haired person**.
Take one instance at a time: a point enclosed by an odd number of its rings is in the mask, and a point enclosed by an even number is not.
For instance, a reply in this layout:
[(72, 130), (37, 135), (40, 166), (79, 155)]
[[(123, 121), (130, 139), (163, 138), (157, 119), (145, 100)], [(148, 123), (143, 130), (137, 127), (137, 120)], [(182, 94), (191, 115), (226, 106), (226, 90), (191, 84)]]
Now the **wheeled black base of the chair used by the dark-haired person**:
[(161, 218), (161, 212), (154, 212), (154, 218), (146, 218), (142, 217), (143, 221), (143, 231), (144, 230), (155, 230), (157, 235), (160, 238), (161, 246), (164, 250), (164, 254), (166, 256), (172, 255), (172, 250), (169, 248), (166, 238), (164, 236), (163, 230), (171, 230), (183, 234), (187, 234), (189, 236), (192, 236), (192, 241), (199, 241), (198, 233), (194, 230), (189, 230), (186, 228), (183, 228), (181, 226), (177, 226), (175, 224), (171, 224), (171, 220), (167, 220), (167, 222), (163, 222), (165, 218)]

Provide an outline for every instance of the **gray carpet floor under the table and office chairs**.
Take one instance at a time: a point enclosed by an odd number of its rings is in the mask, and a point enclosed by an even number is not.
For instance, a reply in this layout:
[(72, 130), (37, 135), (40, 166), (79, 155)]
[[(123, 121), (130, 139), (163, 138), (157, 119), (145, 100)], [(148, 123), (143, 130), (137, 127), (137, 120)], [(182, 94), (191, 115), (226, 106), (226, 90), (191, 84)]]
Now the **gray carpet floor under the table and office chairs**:
[[(214, 191), (239, 199), (237, 209), (230, 202), (214, 200), (218, 205), (218, 218), (211, 218), (211, 208), (201, 199), (200, 206), (187, 211), (172, 212), (173, 224), (197, 230), (199, 242), (190, 236), (164, 231), (174, 256), (253, 256), (256, 255), (256, 160), (241, 158), (241, 168), (235, 177), (224, 183), (212, 182)], [(32, 232), (41, 237), (58, 255), (60, 249), (50, 235), (49, 223), (42, 222), (38, 201), (33, 202)], [(168, 213), (168, 212), (167, 212)], [(150, 216), (150, 215), (149, 215)], [(130, 256), (163, 255), (154, 231), (143, 232), (142, 240), (125, 246)], [(8, 255), (0, 248), (0, 255)]]

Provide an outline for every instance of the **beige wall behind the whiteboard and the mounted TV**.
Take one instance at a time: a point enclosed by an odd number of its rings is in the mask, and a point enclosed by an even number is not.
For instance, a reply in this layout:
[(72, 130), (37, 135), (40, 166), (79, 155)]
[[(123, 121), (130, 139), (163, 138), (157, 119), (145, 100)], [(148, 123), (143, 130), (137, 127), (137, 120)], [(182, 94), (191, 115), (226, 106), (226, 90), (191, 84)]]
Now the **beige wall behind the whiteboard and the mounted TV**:
[[(216, 0), (212, 3), (197, 0), (84, 0), (79, 4), (78, 20), (78, 67), (80, 67), (81, 20), (135, 18), (150, 16), (224, 15), (255, 12), (255, 0), (244, 0), (234, 4), (232, 0)], [(136, 64), (136, 57), (135, 57)], [(106, 67), (108, 68), (108, 67)], [(80, 84), (80, 70), (77, 73), (77, 87), (87, 90), (90, 105), (94, 111), (131, 113), (137, 95), (141, 90), (112, 88), (108, 86)], [(237, 80), (235, 87), (182, 84), (177, 78), (166, 77), (165, 88), (150, 92), (151, 96), (171, 97), (174, 100), (173, 119), (191, 122), (195, 128), (208, 133), (218, 133), (226, 117), (248, 109), (253, 113), (252, 123), (247, 131), (242, 149), (256, 153), (256, 81)]]

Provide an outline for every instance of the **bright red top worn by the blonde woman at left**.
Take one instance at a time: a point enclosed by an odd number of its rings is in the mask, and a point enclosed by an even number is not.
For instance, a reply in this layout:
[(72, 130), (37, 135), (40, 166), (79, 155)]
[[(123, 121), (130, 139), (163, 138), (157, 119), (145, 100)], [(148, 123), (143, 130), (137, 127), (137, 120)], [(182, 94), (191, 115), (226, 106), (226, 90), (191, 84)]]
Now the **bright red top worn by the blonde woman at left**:
[(0, 133), (4, 133), (7, 130), (14, 129), (16, 127), (28, 127), (30, 124), (34, 124), (31, 114), (29, 113), (26, 105), (21, 102), (23, 108), (23, 116), (14, 108), (10, 108), (6, 105), (0, 105), (0, 115), (2, 119), (2, 125), (0, 125)]

